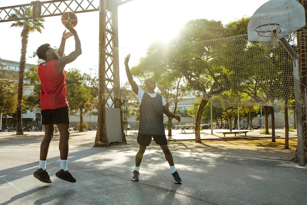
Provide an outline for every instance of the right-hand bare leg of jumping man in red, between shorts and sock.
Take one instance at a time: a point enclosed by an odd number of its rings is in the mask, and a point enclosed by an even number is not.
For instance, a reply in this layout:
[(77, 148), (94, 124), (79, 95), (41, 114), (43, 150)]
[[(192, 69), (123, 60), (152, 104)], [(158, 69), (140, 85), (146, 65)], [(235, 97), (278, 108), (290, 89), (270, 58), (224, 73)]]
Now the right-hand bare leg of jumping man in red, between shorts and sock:
[(60, 150), (60, 158), (67, 159), (68, 157), (68, 148), (69, 148), (69, 123), (67, 124), (57, 124), (57, 128), (60, 132), (60, 143), (59, 143), (59, 150)]

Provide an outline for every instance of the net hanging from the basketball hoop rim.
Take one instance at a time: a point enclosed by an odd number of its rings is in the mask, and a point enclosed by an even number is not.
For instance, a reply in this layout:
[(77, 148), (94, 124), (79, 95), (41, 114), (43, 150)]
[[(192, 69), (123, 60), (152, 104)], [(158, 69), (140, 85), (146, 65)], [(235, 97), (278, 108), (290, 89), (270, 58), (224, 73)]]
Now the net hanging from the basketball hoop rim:
[[(257, 26), (255, 31), (258, 34), (259, 47), (262, 49), (277, 48), (279, 46), (279, 33), (281, 25), (279, 24), (264, 24)], [(268, 40), (269, 38), (269, 40)]]

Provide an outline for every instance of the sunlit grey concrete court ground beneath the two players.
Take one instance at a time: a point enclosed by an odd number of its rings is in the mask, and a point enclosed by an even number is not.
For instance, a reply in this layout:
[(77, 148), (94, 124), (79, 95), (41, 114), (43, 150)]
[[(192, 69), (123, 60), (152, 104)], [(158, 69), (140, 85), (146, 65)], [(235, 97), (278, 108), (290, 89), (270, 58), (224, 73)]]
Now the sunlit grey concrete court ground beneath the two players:
[[(286, 149), (170, 140), (182, 179), (175, 184), (164, 154), (152, 142), (140, 166), (140, 180), (131, 181), (136, 133), (128, 131), (126, 145), (104, 148), (93, 147), (96, 131), (71, 132), (68, 168), (76, 183), (55, 177), (60, 165), (55, 135), (47, 159), (52, 183), (43, 183), (33, 172), (44, 132), (0, 132), (0, 205), (307, 204), (306, 166), (293, 163), (294, 151)], [(193, 136), (192, 131), (173, 130), (173, 138)]]

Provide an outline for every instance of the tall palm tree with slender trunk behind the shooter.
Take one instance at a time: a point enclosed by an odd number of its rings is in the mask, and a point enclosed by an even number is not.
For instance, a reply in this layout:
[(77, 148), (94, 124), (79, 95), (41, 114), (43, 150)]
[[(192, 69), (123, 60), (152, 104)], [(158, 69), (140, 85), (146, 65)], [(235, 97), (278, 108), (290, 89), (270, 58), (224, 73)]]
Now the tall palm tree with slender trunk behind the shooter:
[[(24, 7), (20, 10), (14, 9), (14, 14), (9, 14), (9, 19), (23, 19), (32, 17), (33, 11), (31, 7)], [(18, 81), (18, 100), (17, 100), (17, 133), (24, 134), (23, 124), (22, 124), (22, 98), (23, 98), (23, 86), (24, 86), (24, 72), (26, 66), (26, 47), (28, 43), (28, 35), (30, 32), (38, 31), (42, 33), (42, 28), (44, 28), (43, 18), (33, 18), (25, 20), (17, 20), (11, 25), (11, 27), (23, 27), (21, 32), (22, 37), (22, 48), (19, 63), (19, 81)]]

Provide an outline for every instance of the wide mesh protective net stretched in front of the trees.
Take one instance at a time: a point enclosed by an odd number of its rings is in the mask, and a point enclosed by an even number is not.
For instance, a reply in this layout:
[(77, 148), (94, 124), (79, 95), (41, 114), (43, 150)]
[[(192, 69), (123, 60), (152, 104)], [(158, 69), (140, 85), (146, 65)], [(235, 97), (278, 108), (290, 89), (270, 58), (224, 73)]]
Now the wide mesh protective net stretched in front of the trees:
[[(296, 41), (290, 44), (297, 51)], [(119, 52), (127, 50), (120, 48)], [(274, 101), (293, 95), (292, 58), (280, 42), (274, 47), (259, 47), (258, 42), (248, 41), (247, 35), (240, 35), (192, 43), (156, 43), (139, 59), (138, 64), (129, 64), (134, 80), (144, 87), (145, 79), (153, 77), (156, 92), (168, 103), (203, 98), (222, 108), (272, 106)], [(124, 63), (120, 71), (121, 89), (114, 97), (131, 100), (134, 94)]]

